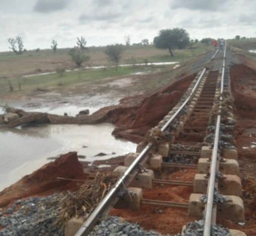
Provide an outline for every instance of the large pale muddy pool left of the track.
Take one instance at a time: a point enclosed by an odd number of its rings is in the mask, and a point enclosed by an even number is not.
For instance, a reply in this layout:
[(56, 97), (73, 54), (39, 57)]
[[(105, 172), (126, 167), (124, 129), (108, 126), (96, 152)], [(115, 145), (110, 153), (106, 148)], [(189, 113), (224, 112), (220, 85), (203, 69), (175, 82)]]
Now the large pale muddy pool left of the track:
[[(78, 151), (92, 162), (134, 152), (136, 144), (115, 139), (113, 129), (107, 123), (0, 129), (0, 191), (61, 153)], [(108, 155), (95, 157), (99, 152)]]

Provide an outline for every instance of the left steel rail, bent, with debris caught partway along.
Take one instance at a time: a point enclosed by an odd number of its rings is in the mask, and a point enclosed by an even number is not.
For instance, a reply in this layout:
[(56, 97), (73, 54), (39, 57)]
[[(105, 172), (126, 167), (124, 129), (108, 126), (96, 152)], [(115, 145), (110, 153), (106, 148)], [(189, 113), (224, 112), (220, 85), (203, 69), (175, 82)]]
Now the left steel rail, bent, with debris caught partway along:
[[(165, 123), (165, 125), (161, 128), (161, 131), (164, 131), (170, 125), (170, 123), (178, 116), (178, 114), (182, 111), (182, 109), (188, 103), (190, 98), (195, 94), (205, 71), (206, 71), (206, 67), (203, 69), (200, 77), (198, 78), (196, 85), (194, 86), (193, 90), (190, 92), (188, 98), (182, 103), (182, 105), (172, 115), (172, 117)], [(140, 152), (140, 154), (137, 156), (134, 162), (130, 165), (130, 167), (118, 179), (115, 186), (106, 194), (106, 196), (102, 199), (99, 205), (94, 209), (94, 211), (90, 214), (87, 220), (80, 227), (80, 229), (76, 232), (75, 236), (87, 235), (91, 231), (98, 217), (100, 217), (103, 211), (107, 208), (110, 201), (114, 197), (116, 197), (116, 194), (118, 193), (120, 188), (123, 187), (123, 185), (125, 185), (125, 181), (128, 179), (128, 177), (131, 176), (131, 173), (136, 170), (137, 166), (142, 162), (143, 158), (145, 158), (146, 154), (149, 152), (152, 145), (153, 145), (152, 143), (148, 143), (147, 146)]]

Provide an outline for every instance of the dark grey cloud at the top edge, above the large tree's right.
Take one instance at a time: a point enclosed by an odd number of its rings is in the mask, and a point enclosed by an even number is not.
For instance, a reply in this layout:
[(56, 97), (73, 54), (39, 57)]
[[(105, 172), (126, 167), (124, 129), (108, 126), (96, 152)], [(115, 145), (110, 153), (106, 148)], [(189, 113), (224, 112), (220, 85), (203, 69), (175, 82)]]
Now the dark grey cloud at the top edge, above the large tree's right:
[(190, 10), (217, 11), (224, 6), (223, 0), (174, 0), (170, 8), (185, 8)]

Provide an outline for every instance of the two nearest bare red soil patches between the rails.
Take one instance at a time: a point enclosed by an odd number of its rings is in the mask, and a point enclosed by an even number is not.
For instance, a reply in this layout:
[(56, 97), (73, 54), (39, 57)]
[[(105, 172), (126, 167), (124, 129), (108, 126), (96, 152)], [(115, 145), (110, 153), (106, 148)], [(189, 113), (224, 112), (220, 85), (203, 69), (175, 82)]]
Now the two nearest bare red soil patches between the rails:
[[(187, 203), (193, 187), (155, 185), (153, 189), (144, 189), (143, 198), (162, 201)], [(162, 210), (159, 213), (159, 209)], [(123, 217), (130, 222), (138, 222), (143, 228), (160, 233), (174, 234), (181, 231), (183, 225), (195, 218), (187, 216), (186, 208), (159, 207), (142, 205), (139, 211), (112, 209), (111, 215)]]

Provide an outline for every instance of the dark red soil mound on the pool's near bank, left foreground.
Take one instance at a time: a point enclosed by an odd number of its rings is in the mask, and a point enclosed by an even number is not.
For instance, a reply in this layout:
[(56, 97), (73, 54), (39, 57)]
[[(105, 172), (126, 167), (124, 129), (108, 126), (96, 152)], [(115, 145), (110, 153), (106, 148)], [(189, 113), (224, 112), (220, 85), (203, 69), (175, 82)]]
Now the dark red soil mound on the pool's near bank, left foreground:
[(28, 196), (42, 196), (58, 191), (75, 190), (82, 183), (62, 180), (58, 177), (73, 180), (84, 180), (86, 178), (76, 152), (62, 155), (54, 162), (44, 165), (31, 175), (23, 177), (15, 184), (4, 189), (0, 193), (0, 207), (9, 204), (13, 200)]

